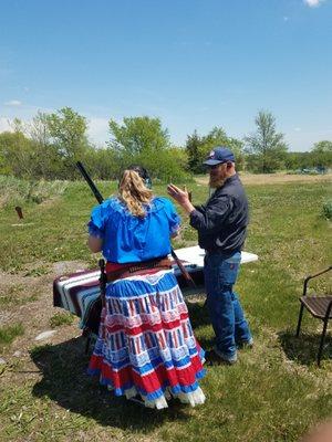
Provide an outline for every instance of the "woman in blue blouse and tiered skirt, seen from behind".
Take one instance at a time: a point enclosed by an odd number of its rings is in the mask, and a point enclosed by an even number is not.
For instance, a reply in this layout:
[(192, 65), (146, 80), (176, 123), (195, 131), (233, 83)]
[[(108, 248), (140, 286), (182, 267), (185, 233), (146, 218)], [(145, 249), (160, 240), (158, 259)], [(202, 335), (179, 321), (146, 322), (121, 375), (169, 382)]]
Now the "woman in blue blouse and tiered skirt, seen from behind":
[(179, 229), (172, 202), (154, 197), (139, 166), (125, 170), (118, 196), (93, 209), (89, 245), (107, 260), (105, 307), (89, 372), (116, 396), (166, 408), (172, 396), (204, 403), (204, 351), (167, 255)]

